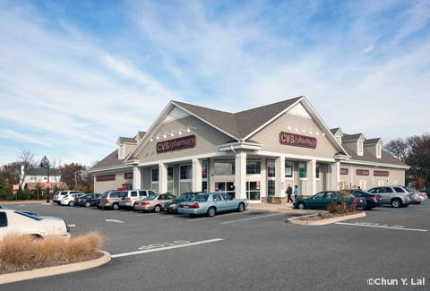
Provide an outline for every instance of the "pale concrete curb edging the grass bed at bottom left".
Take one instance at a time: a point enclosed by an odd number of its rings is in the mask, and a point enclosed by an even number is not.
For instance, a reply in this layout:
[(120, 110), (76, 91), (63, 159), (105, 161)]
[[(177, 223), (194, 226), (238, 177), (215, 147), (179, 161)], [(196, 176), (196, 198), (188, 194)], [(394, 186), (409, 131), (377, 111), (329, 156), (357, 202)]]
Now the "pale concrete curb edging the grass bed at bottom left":
[(103, 264), (106, 264), (108, 261), (111, 260), (109, 252), (105, 252), (105, 251), (101, 251), (101, 252), (104, 253), (104, 256), (92, 261), (75, 262), (73, 264), (61, 265), (56, 267), (48, 267), (48, 268), (42, 268), (42, 269), (36, 269), (36, 270), (26, 270), (23, 272), (0, 275), (0, 285), (18, 282), (18, 281), (30, 280), (32, 278), (43, 278), (48, 276), (55, 276), (55, 275), (77, 272), (80, 270), (88, 270), (91, 268), (96, 268)]

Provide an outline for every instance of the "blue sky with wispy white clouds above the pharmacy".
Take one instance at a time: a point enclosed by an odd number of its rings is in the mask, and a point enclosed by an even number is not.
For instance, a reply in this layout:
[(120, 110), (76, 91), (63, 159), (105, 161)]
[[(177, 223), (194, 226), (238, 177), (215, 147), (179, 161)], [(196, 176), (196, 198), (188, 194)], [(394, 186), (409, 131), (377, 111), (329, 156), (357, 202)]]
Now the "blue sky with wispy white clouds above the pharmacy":
[(305, 96), (329, 128), (429, 132), (430, 1), (0, 2), (0, 166), (91, 166), (170, 100), (236, 113)]

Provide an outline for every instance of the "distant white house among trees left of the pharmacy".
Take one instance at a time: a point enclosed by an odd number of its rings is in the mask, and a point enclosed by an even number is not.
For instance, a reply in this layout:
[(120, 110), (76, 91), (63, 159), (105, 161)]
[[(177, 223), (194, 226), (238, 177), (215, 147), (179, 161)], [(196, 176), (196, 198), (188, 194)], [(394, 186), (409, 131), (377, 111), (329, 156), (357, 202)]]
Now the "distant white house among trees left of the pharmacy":
[[(24, 176), (24, 167), (21, 167), (21, 181)], [(56, 168), (49, 169), (49, 182), (51, 182), (51, 189), (55, 186), (61, 189), (67, 189), (67, 184), (60, 182), (61, 172)], [(35, 190), (37, 184), (39, 184), (42, 189), (45, 189), (45, 183), (47, 182), (47, 168), (33, 168), (29, 170), (29, 173), (25, 175), (24, 181), (22, 183), (22, 189), (29, 188), (30, 190)]]

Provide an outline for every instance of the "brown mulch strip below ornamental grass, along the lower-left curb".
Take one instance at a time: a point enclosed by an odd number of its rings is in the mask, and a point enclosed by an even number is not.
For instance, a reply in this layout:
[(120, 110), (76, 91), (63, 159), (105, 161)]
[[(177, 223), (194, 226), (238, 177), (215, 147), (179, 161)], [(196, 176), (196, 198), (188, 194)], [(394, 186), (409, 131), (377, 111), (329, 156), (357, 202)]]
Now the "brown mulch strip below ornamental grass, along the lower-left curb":
[(0, 264), (0, 275), (9, 274), (14, 272), (22, 272), (25, 270), (35, 270), (47, 267), (56, 267), (61, 265), (72, 264), (75, 262), (82, 261), (92, 261), (103, 257), (103, 252), (90, 252), (85, 257), (70, 257), (64, 259), (55, 259), (55, 260), (45, 260), (45, 261), (35, 261), (31, 260), (28, 263), (22, 266), (14, 266), (11, 264)]

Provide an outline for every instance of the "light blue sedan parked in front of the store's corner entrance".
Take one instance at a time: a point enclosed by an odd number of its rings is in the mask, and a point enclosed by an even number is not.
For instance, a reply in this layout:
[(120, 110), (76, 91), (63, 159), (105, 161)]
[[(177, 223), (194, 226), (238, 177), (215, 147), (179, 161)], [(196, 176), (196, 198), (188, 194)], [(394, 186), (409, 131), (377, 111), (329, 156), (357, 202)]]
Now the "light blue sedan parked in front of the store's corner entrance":
[(236, 210), (242, 212), (248, 207), (245, 199), (235, 199), (226, 193), (203, 193), (196, 195), (191, 201), (181, 202), (179, 213), (187, 213), (190, 216), (206, 214), (213, 217), (215, 213)]

